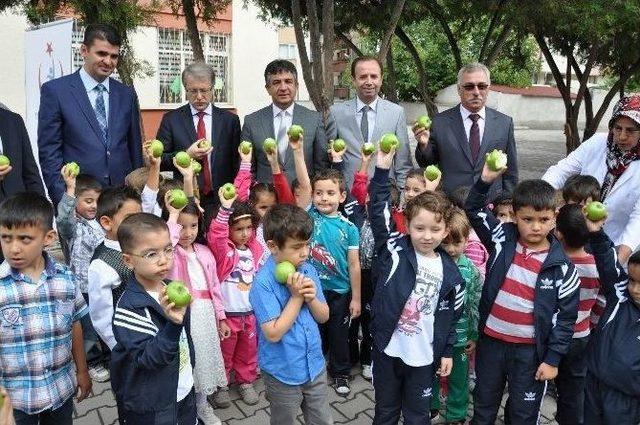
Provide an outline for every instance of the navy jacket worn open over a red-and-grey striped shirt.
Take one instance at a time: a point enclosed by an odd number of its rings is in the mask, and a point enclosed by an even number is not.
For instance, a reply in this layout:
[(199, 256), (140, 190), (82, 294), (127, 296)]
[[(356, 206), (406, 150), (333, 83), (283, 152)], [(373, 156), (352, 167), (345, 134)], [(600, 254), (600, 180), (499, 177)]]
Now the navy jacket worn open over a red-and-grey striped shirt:
[[(489, 251), (487, 274), (480, 297), (480, 334), (484, 331), (487, 317), (513, 263), (520, 236), (514, 223), (501, 223), (485, 207), (490, 187), (478, 179), (464, 206), (471, 226)], [(551, 245), (536, 281), (533, 316), (538, 359), (557, 367), (569, 350), (573, 337), (580, 301), (580, 278), (560, 242), (552, 235), (548, 238)]]

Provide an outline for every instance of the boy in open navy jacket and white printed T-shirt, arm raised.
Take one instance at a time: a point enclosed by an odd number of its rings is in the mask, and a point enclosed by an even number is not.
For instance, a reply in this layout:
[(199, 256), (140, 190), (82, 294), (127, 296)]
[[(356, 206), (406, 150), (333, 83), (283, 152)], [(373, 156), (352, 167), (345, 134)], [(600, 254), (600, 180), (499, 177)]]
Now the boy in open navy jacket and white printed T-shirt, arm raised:
[[(369, 182), (369, 212), (377, 254), (371, 305), (374, 424), (429, 424), (436, 374), (453, 365), (455, 324), (464, 306), (464, 280), (440, 246), (451, 204), (436, 192), (413, 198), (404, 210), (407, 235), (391, 219), (389, 168), (395, 150), (378, 152)], [(437, 371), (436, 371), (437, 368)]]

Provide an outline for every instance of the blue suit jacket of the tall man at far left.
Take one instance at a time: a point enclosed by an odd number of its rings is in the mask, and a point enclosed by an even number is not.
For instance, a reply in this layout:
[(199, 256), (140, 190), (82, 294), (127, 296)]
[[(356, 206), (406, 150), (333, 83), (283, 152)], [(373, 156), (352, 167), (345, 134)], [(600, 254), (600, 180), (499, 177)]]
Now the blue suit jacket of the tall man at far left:
[(40, 89), (38, 148), (49, 195), (57, 204), (65, 191), (60, 175), (71, 161), (104, 186), (124, 184), (132, 170), (142, 167), (142, 134), (138, 97), (132, 87), (109, 79), (109, 132), (105, 145), (80, 74), (49, 81)]

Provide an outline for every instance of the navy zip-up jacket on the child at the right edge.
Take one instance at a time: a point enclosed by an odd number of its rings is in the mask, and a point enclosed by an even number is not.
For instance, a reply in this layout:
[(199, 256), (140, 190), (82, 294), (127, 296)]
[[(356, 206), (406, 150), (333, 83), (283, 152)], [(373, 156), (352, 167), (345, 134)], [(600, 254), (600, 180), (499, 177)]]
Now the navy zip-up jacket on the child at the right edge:
[(629, 276), (604, 231), (591, 233), (607, 304), (587, 349), (589, 373), (632, 397), (640, 396), (640, 307), (629, 295)]

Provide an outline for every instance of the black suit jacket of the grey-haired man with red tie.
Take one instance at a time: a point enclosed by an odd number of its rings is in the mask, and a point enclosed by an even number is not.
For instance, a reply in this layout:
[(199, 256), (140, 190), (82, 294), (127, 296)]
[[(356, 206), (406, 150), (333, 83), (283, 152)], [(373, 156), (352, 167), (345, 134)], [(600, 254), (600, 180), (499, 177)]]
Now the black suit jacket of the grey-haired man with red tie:
[[(193, 125), (191, 107), (187, 103), (169, 111), (162, 117), (156, 138), (164, 144), (161, 169), (175, 171), (173, 156), (185, 151), (196, 141), (196, 127)], [(212, 196), (218, 198), (218, 189), (225, 183), (232, 183), (240, 166), (240, 120), (236, 114), (211, 105), (211, 186)], [(203, 176), (198, 177), (200, 188)]]

